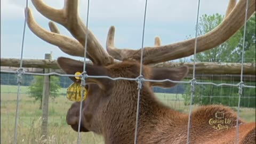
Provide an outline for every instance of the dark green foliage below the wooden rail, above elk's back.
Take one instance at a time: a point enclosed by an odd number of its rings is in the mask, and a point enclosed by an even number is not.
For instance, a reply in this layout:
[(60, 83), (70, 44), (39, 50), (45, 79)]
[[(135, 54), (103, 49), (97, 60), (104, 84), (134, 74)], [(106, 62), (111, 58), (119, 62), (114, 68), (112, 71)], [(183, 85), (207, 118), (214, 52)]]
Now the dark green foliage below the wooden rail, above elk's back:
[[(207, 81), (210, 82), (210, 81)], [(222, 83), (214, 81), (214, 83)], [(226, 82), (228, 83), (228, 82)], [(230, 83), (230, 82), (229, 82)], [(235, 82), (233, 82), (234, 84)], [(246, 85), (255, 85), (255, 82), (245, 82)], [(185, 105), (190, 104), (190, 86), (186, 86), (185, 92), (182, 94)], [(238, 87), (236, 86), (213, 86), (213, 85), (195, 85), (195, 94), (193, 97), (193, 105), (211, 105), (222, 104), (230, 107), (238, 105)], [(241, 107), (255, 108), (255, 88), (243, 88), (241, 95)]]

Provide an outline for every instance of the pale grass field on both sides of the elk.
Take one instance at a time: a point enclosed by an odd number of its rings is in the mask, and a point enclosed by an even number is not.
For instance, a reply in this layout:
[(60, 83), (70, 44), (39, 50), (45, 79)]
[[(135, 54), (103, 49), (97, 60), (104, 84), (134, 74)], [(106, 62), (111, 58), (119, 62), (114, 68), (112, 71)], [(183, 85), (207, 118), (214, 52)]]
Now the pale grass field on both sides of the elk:
[[(61, 93), (65, 93), (62, 89)], [(39, 102), (28, 97), (27, 87), (21, 86), (21, 101), (18, 125), (18, 143), (42, 143)], [(179, 111), (188, 112), (180, 94), (157, 93), (162, 102)], [(179, 98), (179, 100), (177, 100)], [(13, 143), (17, 86), (1, 85), (1, 143)], [(49, 102), (48, 139), (45, 143), (76, 143), (77, 132), (66, 124), (66, 113), (71, 101), (60, 96)], [(198, 106), (193, 106), (195, 109)], [(247, 122), (255, 121), (255, 109), (241, 108), (241, 117)], [(83, 143), (103, 143), (102, 137), (93, 133), (82, 133)]]

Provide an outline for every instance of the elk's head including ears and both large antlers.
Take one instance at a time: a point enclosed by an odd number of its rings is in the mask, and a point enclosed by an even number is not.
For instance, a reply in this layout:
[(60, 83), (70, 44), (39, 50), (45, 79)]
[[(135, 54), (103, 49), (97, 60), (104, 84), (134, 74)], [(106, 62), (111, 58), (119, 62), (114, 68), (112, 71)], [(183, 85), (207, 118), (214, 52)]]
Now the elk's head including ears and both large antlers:
[[(63, 9), (53, 9), (42, 2), (42, 0), (31, 0), (36, 9), (46, 18), (55, 21), (69, 30), (75, 39), (59, 34), (58, 28), (53, 22), (49, 22), (50, 31), (38, 26), (34, 21), (30, 9), (26, 9), (27, 23), (31, 31), (44, 41), (56, 45), (61, 51), (78, 57), (84, 57), (85, 35), (87, 31), (87, 53), (86, 58), (93, 65), (86, 65), (89, 76), (109, 76), (137, 78), (140, 70), (141, 50), (117, 49), (114, 45), (115, 28), (110, 27), (107, 36), (107, 52), (94, 37), (90, 30), (84, 26), (77, 13), (77, 0), (66, 0)], [(244, 25), (246, 1), (230, 0), (226, 17), (222, 23), (209, 33), (197, 38), (197, 52), (206, 51), (225, 42)], [(249, 1), (247, 18), (255, 12), (255, 0)], [(188, 73), (187, 67), (181, 68), (153, 68), (148, 66), (194, 54), (195, 38), (177, 42), (169, 45), (160, 45), (156, 38), (154, 47), (143, 48), (142, 75), (145, 79), (171, 79), (180, 81)], [(121, 60), (116, 62), (114, 59)], [(59, 58), (61, 69), (67, 74), (75, 74), (83, 71), (83, 62), (69, 58)], [(74, 82), (74, 77), (70, 77)], [(138, 84), (135, 81), (116, 80), (108, 78), (86, 78), (86, 99), (83, 101), (81, 131), (93, 131), (104, 134), (106, 137), (115, 137), (112, 129), (121, 130), (124, 134), (134, 132), (135, 114), (137, 105)], [(154, 117), (157, 108), (164, 107), (155, 99), (151, 86), (171, 87), (172, 82), (144, 82), (141, 90), (140, 120), (143, 117)], [(68, 110), (67, 123), (77, 131), (79, 118), (79, 102), (73, 103)], [(146, 122), (146, 121), (145, 121)], [(147, 122), (146, 122), (147, 123)], [(127, 127), (128, 126), (128, 127)], [(131, 129), (131, 127), (133, 127)], [(111, 129), (110, 129), (111, 128)], [(141, 128), (141, 127), (140, 127)], [(141, 128), (142, 129), (142, 128)], [(130, 138), (127, 138), (130, 139)], [(133, 139), (133, 137), (131, 138)]]

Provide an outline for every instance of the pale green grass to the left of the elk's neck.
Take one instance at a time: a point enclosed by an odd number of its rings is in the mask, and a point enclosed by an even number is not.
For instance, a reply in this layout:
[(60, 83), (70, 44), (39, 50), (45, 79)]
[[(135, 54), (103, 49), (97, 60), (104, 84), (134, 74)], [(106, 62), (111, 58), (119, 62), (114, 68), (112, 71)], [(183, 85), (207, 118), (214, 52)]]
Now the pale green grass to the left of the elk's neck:
[[(1, 143), (13, 143), (17, 94), (1, 93)], [(21, 94), (18, 126), (18, 143), (40, 143), (41, 116), (39, 102)], [(66, 124), (66, 113), (72, 102), (59, 97), (49, 102), (48, 141), (50, 143), (76, 143), (77, 132)], [(99, 135), (82, 133), (85, 143), (103, 143)]]

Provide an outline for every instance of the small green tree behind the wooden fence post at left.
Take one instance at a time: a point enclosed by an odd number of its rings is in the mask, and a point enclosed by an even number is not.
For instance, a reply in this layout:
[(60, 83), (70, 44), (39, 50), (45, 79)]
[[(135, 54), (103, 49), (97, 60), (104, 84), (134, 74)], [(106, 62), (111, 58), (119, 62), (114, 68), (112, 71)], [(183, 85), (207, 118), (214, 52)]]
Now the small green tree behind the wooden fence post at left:
[[(43, 76), (34, 76), (34, 80), (31, 82), (28, 87), (29, 97), (35, 98), (35, 101), (40, 100), (39, 109), (42, 109), (42, 100), (43, 100)], [(51, 76), (50, 77), (50, 97), (56, 98), (59, 95), (60, 85), (59, 77)]]

